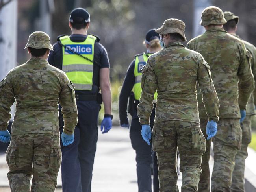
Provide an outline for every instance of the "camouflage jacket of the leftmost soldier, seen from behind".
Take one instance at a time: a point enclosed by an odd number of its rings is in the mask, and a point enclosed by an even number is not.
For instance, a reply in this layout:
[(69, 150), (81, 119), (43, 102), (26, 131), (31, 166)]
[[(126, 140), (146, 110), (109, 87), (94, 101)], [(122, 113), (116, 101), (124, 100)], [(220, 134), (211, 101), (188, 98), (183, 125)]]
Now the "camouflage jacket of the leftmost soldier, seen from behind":
[(59, 135), (58, 102), (64, 131), (74, 132), (78, 122), (74, 86), (61, 70), (40, 58), (13, 68), (0, 82), (0, 130), (6, 130), (10, 107), (16, 100), (11, 135), (49, 133)]

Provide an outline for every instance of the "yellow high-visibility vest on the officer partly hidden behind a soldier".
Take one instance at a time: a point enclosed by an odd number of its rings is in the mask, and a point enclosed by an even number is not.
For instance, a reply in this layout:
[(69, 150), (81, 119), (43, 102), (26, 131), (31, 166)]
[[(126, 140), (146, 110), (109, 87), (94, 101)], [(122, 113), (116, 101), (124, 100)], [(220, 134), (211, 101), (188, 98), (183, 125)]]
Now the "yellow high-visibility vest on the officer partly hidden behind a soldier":
[[(152, 54), (139, 54), (135, 55), (135, 66), (134, 66), (134, 76), (135, 76), (135, 83), (133, 87), (134, 91), (134, 98), (135, 100), (139, 100), (141, 97), (141, 69), (146, 64), (148, 60), (148, 56)], [(156, 101), (157, 93), (155, 93), (154, 100)]]

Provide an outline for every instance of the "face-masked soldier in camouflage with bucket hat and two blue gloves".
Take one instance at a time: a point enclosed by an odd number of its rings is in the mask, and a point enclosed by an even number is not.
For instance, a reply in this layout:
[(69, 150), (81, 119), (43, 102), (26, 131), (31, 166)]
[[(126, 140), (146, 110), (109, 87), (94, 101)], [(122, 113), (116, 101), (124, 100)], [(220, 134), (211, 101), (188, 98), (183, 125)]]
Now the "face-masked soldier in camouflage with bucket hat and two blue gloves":
[[(141, 98), (137, 114), (142, 124), (141, 135), (151, 138), (149, 118), (157, 91), (156, 116), (152, 131), (153, 150), (158, 157), (161, 192), (178, 192), (177, 147), (180, 153), (182, 191), (197, 191), (202, 170), (205, 138), (199, 126), (196, 97), (198, 82), (209, 118), (208, 139), (217, 132), (219, 100), (211, 80), (209, 65), (198, 52), (184, 48), (185, 24), (178, 19), (165, 20), (156, 30), (163, 50), (150, 55), (141, 70)], [(205, 127), (204, 127), (205, 128)]]

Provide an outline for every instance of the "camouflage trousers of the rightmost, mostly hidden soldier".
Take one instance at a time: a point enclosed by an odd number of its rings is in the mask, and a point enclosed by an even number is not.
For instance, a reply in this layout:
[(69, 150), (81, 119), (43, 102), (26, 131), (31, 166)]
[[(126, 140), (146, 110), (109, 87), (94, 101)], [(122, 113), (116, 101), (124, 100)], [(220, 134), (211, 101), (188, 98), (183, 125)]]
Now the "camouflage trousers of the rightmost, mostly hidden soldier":
[(241, 150), (237, 152), (235, 159), (235, 168), (232, 175), (232, 192), (245, 191), (245, 159), (248, 156), (247, 147), (252, 140), (251, 133), (252, 116), (246, 116), (245, 120), (241, 123), (243, 130)]

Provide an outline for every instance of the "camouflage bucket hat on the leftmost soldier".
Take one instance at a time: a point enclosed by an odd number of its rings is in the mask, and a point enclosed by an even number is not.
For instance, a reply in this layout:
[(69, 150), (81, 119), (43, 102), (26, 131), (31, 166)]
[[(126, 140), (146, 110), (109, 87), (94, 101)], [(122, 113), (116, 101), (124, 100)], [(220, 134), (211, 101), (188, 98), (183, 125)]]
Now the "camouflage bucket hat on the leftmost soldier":
[(28, 37), (28, 43), (25, 46), (25, 49), (31, 47), (35, 49), (50, 49), (53, 51), (53, 47), (50, 43), (50, 37), (47, 33), (42, 31), (35, 31), (30, 34)]

